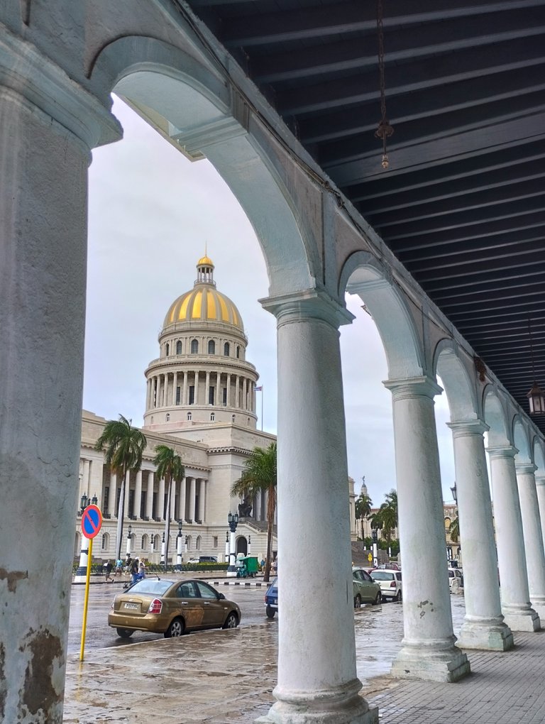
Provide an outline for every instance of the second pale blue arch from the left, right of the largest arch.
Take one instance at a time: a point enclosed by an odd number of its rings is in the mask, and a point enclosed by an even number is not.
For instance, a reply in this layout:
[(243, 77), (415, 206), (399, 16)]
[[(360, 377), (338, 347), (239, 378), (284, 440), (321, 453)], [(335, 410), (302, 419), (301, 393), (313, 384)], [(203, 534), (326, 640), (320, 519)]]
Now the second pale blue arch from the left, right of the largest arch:
[(380, 334), (389, 379), (426, 374), (423, 345), (405, 299), (390, 281), (389, 272), (366, 251), (352, 253), (339, 275), (339, 295), (356, 294), (371, 313)]

